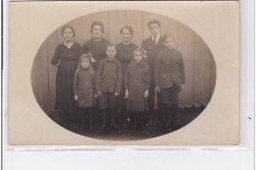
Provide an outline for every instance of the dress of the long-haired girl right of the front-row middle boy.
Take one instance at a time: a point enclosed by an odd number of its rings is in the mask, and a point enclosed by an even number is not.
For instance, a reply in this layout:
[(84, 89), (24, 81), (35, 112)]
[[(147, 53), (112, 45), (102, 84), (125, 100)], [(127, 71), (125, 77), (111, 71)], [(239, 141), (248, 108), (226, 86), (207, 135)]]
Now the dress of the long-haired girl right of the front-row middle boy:
[(125, 72), (124, 85), (128, 89), (129, 96), (127, 99), (127, 110), (135, 112), (143, 112), (149, 109), (148, 100), (145, 98), (145, 90), (150, 88), (150, 71), (148, 73), (141, 72), (141, 63), (131, 63)]

